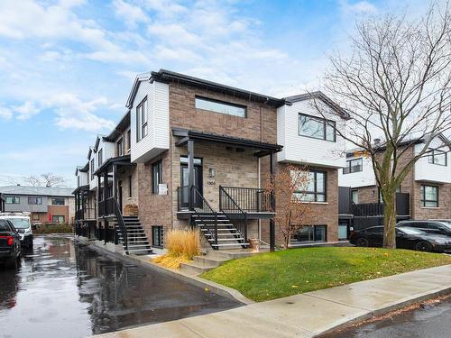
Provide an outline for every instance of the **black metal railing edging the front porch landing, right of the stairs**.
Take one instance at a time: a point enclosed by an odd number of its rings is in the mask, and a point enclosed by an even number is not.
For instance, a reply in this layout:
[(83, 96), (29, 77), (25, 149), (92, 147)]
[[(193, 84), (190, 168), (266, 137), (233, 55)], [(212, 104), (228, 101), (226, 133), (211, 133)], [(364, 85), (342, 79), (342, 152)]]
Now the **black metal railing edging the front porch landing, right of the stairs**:
[[(233, 200), (235, 203), (231, 203)], [(271, 194), (259, 187), (219, 187), (219, 208), (233, 210), (235, 206), (247, 213), (271, 212)]]

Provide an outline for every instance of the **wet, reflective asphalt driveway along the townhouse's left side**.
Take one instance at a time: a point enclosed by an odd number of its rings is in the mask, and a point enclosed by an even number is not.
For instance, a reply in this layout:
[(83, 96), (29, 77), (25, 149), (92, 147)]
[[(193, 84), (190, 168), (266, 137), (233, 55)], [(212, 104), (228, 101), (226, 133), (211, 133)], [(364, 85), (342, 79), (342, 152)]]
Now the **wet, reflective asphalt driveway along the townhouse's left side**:
[(21, 269), (0, 266), (0, 337), (85, 337), (239, 306), (70, 236), (37, 236)]

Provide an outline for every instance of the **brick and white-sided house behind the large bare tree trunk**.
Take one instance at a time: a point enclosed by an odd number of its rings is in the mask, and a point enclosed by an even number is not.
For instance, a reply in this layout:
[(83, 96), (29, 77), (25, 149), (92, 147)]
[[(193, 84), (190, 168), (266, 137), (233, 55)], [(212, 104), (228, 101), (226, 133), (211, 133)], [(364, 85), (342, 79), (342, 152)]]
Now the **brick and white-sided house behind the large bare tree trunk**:
[[(404, 142), (401, 149), (407, 147), (407, 150), (400, 159), (400, 166), (418, 154), (423, 146), (424, 141), (421, 139)], [(400, 217), (416, 220), (451, 219), (450, 147), (451, 143), (446, 137), (438, 135), (431, 142), (428, 154), (415, 163), (397, 192), (398, 208), (405, 210), (398, 210)], [(383, 147), (380, 154), (383, 154)], [(346, 166), (340, 170), (338, 182), (340, 187), (350, 188), (350, 199), (354, 204), (383, 204), (372, 160), (363, 151), (347, 152)]]

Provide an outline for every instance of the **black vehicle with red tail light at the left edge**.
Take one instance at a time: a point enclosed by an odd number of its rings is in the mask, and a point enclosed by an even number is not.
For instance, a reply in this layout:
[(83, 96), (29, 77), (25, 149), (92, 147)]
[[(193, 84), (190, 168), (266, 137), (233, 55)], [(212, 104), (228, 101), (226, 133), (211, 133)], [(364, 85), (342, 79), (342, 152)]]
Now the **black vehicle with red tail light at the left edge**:
[(0, 262), (6, 266), (17, 268), (21, 261), (21, 237), (14, 225), (0, 219)]

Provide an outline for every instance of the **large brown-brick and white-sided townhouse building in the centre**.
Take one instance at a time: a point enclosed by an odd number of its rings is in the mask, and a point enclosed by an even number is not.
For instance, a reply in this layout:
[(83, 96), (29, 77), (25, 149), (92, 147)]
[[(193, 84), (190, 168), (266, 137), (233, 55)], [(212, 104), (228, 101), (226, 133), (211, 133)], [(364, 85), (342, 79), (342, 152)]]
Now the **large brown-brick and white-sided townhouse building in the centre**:
[(126, 107), (97, 142), (113, 151), (104, 146), (97, 163), (94, 147), (78, 170), (96, 192), (97, 239), (148, 252), (171, 228), (197, 226), (209, 248), (245, 248), (249, 239), (273, 247), (283, 240), (268, 179), (307, 166), (311, 182), (297, 196), (315, 217), (292, 244), (338, 240), (345, 142), (336, 128), (348, 114), (324, 94), (279, 99), (161, 69), (136, 78)]

